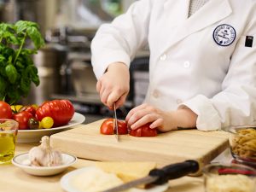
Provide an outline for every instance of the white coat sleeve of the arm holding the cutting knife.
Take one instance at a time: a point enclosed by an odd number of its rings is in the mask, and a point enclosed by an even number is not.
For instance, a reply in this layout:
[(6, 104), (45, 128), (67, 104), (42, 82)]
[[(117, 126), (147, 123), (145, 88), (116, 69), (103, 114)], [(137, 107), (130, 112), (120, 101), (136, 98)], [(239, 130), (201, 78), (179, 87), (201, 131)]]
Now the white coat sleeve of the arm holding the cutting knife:
[(112, 23), (103, 24), (98, 29), (90, 46), (91, 62), (97, 79), (115, 61), (124, 62), (130, 67), (137, 49), (146, 45), (151, 1), (133, 3), (124, 15), (119, 15)]

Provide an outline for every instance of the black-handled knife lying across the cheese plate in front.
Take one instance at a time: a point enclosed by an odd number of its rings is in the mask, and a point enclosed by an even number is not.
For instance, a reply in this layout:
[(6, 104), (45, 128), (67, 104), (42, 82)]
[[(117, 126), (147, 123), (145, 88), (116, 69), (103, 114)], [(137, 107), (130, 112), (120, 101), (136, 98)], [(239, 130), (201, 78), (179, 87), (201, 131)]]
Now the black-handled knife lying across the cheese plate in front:
[(179, 177), (186, 176), (189, 173), (194, 173), (199, 171), (199, 164), (195, 160), (186, 160), (181, 163), (171, 164), (164, 166), (161, 169), (153, 169), (149, 172), (147, 177), (139, 178), (137, 180), (121, 184), (112, 189), (104, 190), (103, 192), (119, 192), (133, 187), (137, 187), (141, 184), (160, 185), (167, 183), (170, 179), (175, 179)]

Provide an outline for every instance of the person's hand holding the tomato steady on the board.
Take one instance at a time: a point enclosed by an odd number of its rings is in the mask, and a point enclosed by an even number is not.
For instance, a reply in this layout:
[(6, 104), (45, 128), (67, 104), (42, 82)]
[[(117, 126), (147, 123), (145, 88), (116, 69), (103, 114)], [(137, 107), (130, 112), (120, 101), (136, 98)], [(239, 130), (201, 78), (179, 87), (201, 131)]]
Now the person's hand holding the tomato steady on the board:
[(196, 119), (197, 115), (189, 108), (165, 112), (145, 103), (131, 109), (125, 121), (132, 130), (147, 123), (151, 123), (149, 125), (151, 129), (157, 128), (159, 131), (166, 132), (177, 130), (178, 128), (194, 128)]

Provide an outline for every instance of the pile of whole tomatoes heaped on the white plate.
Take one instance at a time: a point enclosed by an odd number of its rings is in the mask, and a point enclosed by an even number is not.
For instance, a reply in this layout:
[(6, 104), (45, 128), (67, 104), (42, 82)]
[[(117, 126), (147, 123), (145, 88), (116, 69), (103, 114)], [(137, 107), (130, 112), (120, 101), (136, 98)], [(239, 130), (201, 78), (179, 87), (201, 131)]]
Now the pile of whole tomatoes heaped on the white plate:
[(6, 102), (0, 101), (0, 119), (15, 119), (19, 123), (19, 130), (39, 129), (42, 119), (51, 119), (50, 128), (67, 123), (73, 118), (73, 104), (68, 100), (53, 100), (44, 102), (41, 106), (23, 106), (19, 110), (12, 110)]

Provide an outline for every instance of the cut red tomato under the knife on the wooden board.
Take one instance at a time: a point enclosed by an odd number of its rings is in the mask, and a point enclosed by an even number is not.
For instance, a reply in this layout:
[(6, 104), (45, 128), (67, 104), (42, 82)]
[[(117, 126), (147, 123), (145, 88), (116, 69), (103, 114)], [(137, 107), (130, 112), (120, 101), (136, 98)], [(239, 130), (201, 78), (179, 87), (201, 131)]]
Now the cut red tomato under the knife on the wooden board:
[[(129, 130), (125, 121), (118, 120), (119, 135), (128, 134), (133, 137), (155, 137), (157, 130), (149, 128), (149, 124), (143, 125), (136, 130)], [(113, 135), (113, 119), (105, 119), (101, 125), (101, 133), (103, 135)]]

